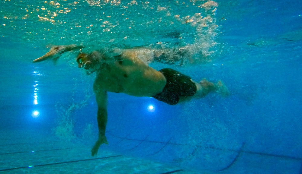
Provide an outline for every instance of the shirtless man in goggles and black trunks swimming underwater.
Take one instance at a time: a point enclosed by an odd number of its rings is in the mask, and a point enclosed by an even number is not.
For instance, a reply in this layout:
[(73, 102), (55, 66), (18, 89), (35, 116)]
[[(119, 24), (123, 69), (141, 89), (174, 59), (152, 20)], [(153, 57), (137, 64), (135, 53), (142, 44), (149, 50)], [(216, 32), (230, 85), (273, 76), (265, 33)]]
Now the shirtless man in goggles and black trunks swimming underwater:
[[(53, 46), (49, 52), (33, 62), (58, 59), (63, 52), (81, 48), (83, 46)], [(107, 92), (153, 97), (169, 105), (175, 105), (192, 97), (204, 97), (212, 91), (223, 96), (229, 95), (228, 89), (221, 81), (214, 84), (203, 79), (197, 83), (173, 69), (164, 68), (156, 71), (148, 66), (148, 62), (165, 53), (166, 51), (147, 48), (79, 53), (76, 58), (78, 67), (96, 73), (93, 90), (98, 104), (99, 135), (91, 150), (92, 156), (98, 153), (101, 144), (108, 144), (105, 136), (108, 116)]]

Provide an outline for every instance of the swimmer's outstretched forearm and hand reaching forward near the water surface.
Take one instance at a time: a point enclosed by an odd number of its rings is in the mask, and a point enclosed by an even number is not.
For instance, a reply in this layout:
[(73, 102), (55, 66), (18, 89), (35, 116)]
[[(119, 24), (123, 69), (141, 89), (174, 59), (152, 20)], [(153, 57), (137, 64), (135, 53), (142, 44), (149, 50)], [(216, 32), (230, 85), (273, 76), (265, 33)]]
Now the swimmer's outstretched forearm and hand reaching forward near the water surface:
[(74, 49), (82, 49), (84, 48), (82, 45), (77, 46), (75, 44), (72, 45), (61, 45), (61, 46), (52, 46), (45, 55), (39, 57), (38, 59), (33, 60), (33, 62), (42, 62), (47, 59), (57, 60), (60, 55), (66, 51), (72, 51)]

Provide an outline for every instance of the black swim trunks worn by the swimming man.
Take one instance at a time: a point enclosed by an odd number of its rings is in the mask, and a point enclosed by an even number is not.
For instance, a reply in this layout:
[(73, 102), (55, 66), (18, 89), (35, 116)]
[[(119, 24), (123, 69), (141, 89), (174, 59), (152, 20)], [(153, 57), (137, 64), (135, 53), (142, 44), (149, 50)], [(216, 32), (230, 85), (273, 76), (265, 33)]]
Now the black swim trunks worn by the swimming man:
[(179, 96), (193, 96), (196, 93), (196, 85), (189, 76), (181, 74), (171, 68), (159, 70), (167, 79), (167, 84), (161, 93), (152, 96), (153, 98), (165, 102), (169, 105), (176, 105)]

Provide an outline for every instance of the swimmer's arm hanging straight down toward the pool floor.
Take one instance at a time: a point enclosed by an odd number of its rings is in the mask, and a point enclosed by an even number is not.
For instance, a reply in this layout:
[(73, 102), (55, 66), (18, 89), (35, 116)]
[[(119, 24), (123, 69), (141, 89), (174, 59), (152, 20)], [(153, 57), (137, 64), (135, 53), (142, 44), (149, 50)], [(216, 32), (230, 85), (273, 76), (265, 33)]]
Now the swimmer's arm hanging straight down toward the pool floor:
[(105, 136), (106, 125), (107, 125), (107, 92), (100, 90), (94, 84), (93, 90), (95, 91), (96, 102), (98, 104), (98, 140), (91, 150), (91, 156), (95, 156), (98, 153), (98, 149), (102, 144), (108, 144)]

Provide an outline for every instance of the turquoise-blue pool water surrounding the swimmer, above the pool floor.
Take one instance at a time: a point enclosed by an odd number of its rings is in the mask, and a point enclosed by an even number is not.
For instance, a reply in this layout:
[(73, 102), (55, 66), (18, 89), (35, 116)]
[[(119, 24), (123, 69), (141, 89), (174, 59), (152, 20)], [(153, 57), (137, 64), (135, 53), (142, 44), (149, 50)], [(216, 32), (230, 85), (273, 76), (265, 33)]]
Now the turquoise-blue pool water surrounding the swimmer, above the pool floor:
[(45, 138), (94, 144), (94, 75), (77, 68), (76, 52), (65, 53), (56, 65), (31, 63), (48, 52), (48, 44), (83, 44), (84, 52), (187, 46), (193, 59), (150, 66), (173, 68), (195, 81), (221, 79), (231, 95), (211, 93), (169, 106), (109, 93), (109, 145), (101, 146), (98, 157), (101, 150), (114, 150), (204, 173), (300, 174), (301, 3), (217, 3), (1, 1), (1, 131), (36, 131)]

